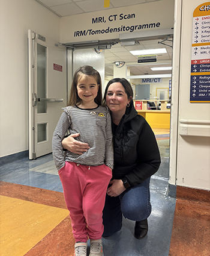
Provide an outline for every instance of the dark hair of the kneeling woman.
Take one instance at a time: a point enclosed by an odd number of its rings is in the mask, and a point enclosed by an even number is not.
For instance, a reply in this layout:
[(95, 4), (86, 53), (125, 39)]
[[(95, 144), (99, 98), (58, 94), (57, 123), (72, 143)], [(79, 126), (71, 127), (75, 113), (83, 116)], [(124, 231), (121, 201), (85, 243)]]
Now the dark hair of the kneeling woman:
[(125, 78), (113, 78), (112, 80), (110, 80), (106, 86), (105, 92), (104, 92), (104, 98), (103, 98), (103, 106), (106, 106), (106, 95), (107, 95), (107, 91), (109, 89), (109, 86), (113, 83), (121, 83), (122, 86), (125, 89), (125, 93), (127, 94), (128, 98), (132, 97), (131, 101), (130, 101), (130, 105), (133, 104), (133, 89), (131, 87), (130, 82), (128, 82), (128, 80), (126, 80)]

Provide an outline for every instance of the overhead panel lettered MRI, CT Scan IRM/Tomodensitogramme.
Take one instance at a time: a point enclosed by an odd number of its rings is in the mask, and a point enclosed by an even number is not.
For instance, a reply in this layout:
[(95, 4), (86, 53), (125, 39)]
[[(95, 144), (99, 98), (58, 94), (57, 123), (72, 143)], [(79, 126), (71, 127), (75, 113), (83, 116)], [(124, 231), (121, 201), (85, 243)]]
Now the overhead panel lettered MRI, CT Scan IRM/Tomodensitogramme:
[[(135, 5), (62, 17), (60, 42), (119, 39), (119, 35), (127, 33), (140, 33), (142, 37), (145, 32), (153, 33), (173, 28), (174, 0), (152, 1), (146, 4), (140, 2), (142, 1), (136, 1)], [(171, 33), (173, 34), (173, 30)]]

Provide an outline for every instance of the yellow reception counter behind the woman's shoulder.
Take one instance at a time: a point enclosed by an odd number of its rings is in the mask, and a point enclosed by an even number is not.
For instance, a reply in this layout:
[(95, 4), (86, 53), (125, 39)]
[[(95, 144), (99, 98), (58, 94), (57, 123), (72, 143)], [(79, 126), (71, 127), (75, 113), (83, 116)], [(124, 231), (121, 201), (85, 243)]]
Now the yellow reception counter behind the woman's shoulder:
[(170, 110), (137, 110), (151, 128), (170, 128)]

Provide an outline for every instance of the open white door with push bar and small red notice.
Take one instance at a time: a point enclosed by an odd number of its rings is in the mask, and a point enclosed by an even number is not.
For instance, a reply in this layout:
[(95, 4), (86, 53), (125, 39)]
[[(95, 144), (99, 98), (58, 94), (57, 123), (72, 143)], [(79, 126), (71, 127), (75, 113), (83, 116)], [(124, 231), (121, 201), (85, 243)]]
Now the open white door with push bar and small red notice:
[(29, 159), (52, 152), (52, 135), (67, 99), (64, 46), (28, 31)]

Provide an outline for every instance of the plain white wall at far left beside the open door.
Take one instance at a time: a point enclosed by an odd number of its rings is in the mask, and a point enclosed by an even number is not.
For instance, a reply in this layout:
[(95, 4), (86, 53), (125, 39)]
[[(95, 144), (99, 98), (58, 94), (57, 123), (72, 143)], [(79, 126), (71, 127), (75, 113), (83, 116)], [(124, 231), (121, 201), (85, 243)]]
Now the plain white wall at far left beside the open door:
[(59, 42), (56, 14), (35, 0), (1, 1), (0, 157), (28, 149), (28, 30)]

